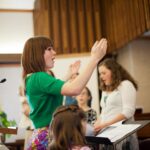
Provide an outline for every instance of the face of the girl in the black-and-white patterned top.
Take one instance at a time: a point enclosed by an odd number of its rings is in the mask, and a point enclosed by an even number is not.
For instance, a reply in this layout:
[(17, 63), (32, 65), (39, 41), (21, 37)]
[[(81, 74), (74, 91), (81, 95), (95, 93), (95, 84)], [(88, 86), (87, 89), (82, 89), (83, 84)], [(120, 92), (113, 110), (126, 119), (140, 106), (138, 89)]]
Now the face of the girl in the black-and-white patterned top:
[(86, 88), (84, 88), (82, 92), (78, 96), (76, 96), (76, 100), (78, 101), (78, 104), (87, 104), (89, 99), (90, 96), (88, 95)]

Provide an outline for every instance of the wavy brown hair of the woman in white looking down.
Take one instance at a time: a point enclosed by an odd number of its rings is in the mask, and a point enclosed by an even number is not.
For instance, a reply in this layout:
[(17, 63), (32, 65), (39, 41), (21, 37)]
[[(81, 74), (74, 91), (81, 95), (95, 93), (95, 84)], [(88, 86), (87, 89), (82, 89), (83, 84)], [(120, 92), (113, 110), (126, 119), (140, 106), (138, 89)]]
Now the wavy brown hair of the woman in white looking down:
[(100, 89), (103, 91), (113, 91), (121, 83), (121, 81), (129, 80), (134, 85), (135, 89), (138, 89), (138, 85), (133, 79), (133, 77), (125, 70), (120, 64), (118, 64), (114, 59), (106, 58), (99, 65), (105, 66), (111, 71), (112, 83), (110, 86), (106, 86), (105, 83), (100, 79)]

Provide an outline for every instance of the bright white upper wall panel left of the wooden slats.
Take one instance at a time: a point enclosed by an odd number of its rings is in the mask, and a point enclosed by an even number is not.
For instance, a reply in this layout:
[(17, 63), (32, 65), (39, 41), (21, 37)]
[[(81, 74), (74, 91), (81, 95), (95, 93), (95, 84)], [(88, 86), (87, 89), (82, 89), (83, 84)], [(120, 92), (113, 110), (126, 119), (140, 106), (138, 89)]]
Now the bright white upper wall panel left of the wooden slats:
[(21, 53), (25, 41), (33, 36), (31, 12), (0, 12), (0, 54)]

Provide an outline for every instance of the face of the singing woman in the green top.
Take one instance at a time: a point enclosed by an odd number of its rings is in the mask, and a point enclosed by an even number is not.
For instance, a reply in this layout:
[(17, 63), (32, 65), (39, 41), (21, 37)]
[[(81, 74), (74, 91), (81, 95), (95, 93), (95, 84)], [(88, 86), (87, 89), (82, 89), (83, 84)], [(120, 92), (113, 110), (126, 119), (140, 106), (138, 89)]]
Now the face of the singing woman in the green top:
[(54, 60), (55, 60), (56, 52), (54, 51), (53, 47), (48, 47), (44, 53), (44, 60), (46, 65), (46, 70), (49, 70), (54, 67)]

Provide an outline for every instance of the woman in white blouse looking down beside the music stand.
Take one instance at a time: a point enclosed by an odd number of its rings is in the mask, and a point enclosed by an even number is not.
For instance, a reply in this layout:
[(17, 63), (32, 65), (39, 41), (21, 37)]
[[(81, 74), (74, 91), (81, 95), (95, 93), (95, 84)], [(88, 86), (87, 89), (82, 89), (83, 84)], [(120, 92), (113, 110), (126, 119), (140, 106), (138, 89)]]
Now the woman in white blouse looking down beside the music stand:
[[(137, 83), (133, 77), (114, 59), (104, 59), (99, 66), (101, 97), (100, 119), (94, 124), (95, 132), (116, 122), (134, 120)], [(126, 139), (121, 149), (138, 150), (135, 135)]]

